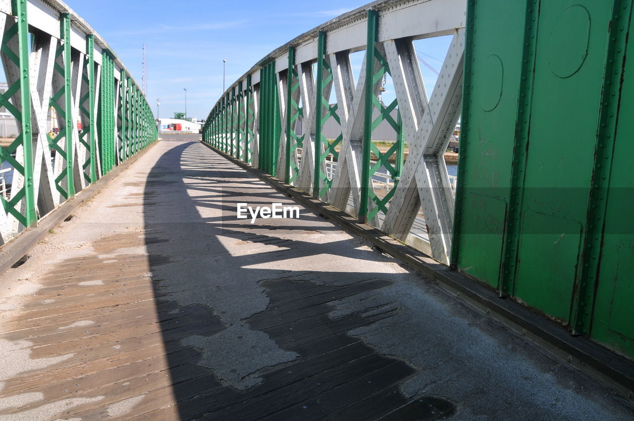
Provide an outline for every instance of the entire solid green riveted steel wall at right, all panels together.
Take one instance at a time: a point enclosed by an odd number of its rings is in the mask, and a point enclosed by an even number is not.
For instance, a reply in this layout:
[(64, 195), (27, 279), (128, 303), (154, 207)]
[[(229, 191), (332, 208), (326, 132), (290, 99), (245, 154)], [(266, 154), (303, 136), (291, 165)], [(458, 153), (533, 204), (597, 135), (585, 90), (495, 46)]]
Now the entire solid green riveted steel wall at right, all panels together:
[(633, 3), (469, 1), (451, 259), (629, 356)]

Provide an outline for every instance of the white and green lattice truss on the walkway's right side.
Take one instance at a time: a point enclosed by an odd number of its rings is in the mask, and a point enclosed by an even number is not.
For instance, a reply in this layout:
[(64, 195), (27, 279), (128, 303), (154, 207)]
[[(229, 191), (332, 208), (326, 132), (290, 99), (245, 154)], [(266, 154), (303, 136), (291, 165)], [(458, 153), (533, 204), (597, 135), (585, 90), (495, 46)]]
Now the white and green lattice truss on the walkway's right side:
[[(443, 154), (460, 117), (465, 10), (465, 0), (385, 0), (330, 20), (231, 84), (205, 121), (203, 141), (339, 209), (349, 209), (352, 197), (351, 213), (399, 239), (408, 238), (422, 209), (427, 247), (448, 262), (455, 178)], [(447, 35), (428, 97), (413, 42)], [(365, 58), (354, 81), (357, 51)], [(396, 99), (385, 105), (379, 95), (388, 76)], [(322, 133), (328, 119), (340, 126), (335, 139)], [(373, 138), (381, 124), (396, 133), (384, 152)]]

